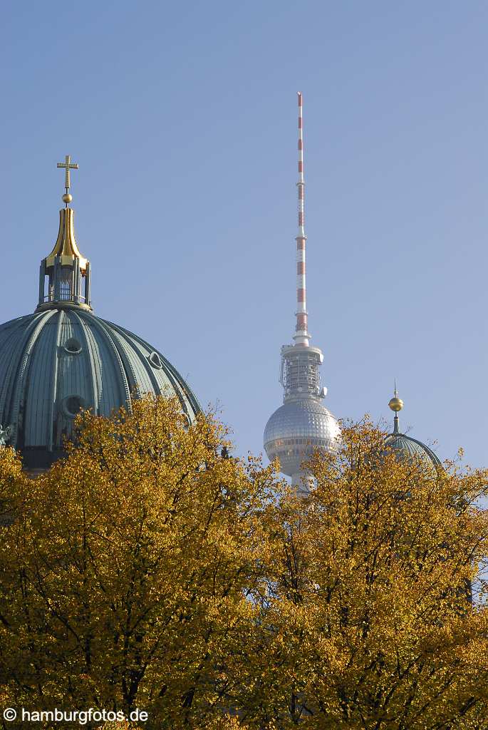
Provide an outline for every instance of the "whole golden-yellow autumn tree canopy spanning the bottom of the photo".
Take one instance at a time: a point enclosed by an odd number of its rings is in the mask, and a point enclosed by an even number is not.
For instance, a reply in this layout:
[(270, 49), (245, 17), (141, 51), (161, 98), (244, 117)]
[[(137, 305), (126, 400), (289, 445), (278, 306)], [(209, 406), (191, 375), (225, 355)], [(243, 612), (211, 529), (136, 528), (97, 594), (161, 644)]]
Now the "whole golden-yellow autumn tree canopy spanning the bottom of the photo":
[(36, 479), (0, 449), (2, 704), (486, 729), (487, 473), (400, 461), (366, 421), (314, 455), (303, 498), (229, 447), (212, 416), (148, 398), (84, 412)]

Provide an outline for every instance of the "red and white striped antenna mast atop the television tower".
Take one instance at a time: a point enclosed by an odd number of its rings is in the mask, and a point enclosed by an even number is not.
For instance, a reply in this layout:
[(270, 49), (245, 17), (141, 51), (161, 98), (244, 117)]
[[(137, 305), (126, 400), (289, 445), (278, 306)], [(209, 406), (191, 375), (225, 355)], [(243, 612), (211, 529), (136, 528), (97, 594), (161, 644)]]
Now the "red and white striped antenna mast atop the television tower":
[(298, 234), (297, 242), (297, 311), (293, 339), (296, 345), (309, 347), (308, 315), (306, 311), (306, 260), (305, 260), (305, 180), (303, 179), (303, 96), (298, 91)]

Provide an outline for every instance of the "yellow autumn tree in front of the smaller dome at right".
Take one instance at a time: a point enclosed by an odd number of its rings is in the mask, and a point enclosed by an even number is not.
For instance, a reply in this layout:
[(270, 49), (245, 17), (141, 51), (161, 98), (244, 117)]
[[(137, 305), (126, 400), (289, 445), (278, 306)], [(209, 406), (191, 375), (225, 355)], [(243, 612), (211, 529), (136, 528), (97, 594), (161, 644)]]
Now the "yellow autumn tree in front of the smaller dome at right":
[(310, 495), (268, 509), (263, 726), (488, 727), (487, 472), (400, 460), (384, 436), (344, 428)]

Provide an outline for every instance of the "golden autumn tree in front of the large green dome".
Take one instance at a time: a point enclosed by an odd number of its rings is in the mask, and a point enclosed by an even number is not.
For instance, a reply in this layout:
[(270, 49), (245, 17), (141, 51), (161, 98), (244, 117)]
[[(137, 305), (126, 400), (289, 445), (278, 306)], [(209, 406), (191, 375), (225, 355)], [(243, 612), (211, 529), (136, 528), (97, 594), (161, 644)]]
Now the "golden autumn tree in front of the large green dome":
[(15, 513), (0, 543), (4, 700), (223, 728), (257, 623), (246, 596), (272, 470), (222, 458), (222, 426), (204, 415), (188, 426), (177, 401), (85, 412), (77, 426), (66, 459), (36, 480), (0, 453)]

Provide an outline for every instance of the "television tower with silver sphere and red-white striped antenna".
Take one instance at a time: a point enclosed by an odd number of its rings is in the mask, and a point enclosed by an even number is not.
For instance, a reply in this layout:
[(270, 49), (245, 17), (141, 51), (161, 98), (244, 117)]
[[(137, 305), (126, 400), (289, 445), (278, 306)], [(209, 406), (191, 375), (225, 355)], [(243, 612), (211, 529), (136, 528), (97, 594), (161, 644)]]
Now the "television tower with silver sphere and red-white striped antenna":
[(336, 418), (322, 405), (326, 388), (320, 387), (321, 350), (311, 347), (306, 311), (306, 260), (303, 180), (302, 95), (298, 93), (298, 234), (297, 311), (295, 345), (283, 345), (280, 383), (283, 405), (264, 429), (264, 448), (270, 461), (279, 459), (283, 474), (292, 477), (299, 492), (308, 491), (310, 477), (302, 469), (314, 450), (334, 450), (340, 429)]

